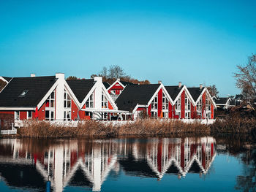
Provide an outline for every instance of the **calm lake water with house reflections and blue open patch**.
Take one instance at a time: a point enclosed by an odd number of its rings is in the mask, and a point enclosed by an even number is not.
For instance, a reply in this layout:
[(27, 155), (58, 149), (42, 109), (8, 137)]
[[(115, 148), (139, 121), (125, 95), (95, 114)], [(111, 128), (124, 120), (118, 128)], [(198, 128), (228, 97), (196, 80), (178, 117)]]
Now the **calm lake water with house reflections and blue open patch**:
[(0, 191), (255, 191), (254, 140), (0, 139)]

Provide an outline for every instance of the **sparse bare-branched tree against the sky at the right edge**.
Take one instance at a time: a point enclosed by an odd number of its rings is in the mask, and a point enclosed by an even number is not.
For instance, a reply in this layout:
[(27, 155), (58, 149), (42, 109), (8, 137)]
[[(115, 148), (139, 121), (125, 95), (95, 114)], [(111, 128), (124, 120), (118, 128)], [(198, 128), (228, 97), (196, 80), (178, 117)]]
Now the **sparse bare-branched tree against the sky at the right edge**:
[(256, 99), (256, 55), (249, 56), (245, 66), (237, 66), (236, 86), (247, 99)]

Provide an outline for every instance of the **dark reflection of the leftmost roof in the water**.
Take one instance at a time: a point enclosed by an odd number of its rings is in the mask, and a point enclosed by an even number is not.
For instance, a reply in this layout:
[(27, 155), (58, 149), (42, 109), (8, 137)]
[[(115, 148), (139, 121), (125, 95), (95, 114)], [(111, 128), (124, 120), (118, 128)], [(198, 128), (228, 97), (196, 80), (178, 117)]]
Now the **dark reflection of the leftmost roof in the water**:
[(7, 185), (23, 188), (26, 191), (45, 190), (44, 178), (32, 165), (0, 164), (0, 173)]

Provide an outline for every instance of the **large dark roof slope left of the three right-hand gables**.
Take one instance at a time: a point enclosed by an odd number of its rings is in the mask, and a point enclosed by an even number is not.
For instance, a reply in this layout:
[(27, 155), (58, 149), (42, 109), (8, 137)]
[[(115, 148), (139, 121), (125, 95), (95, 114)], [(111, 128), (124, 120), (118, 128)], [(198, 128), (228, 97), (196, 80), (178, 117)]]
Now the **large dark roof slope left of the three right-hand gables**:
[(118, 110), (132, 112), (137, 104), (148, 104), (160, 84), (127, 85), (124, 91), (116, 99)]

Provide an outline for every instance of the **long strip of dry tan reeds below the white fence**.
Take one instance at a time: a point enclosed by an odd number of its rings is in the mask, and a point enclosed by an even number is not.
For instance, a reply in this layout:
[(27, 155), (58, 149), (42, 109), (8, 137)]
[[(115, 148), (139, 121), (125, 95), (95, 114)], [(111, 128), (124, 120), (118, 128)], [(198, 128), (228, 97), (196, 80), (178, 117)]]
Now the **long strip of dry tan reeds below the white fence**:
[(143, 119), (134, 123), (114, 124), (85, 120), (77, 127), (50, 125), (46, 121), (29, 120), (18, 129), (21, 137), (117, 137), (121, 135), (148, 135), (182, 133), (209, 133), (210, 127), (200, 123), (183, 123), (179, 120)]

